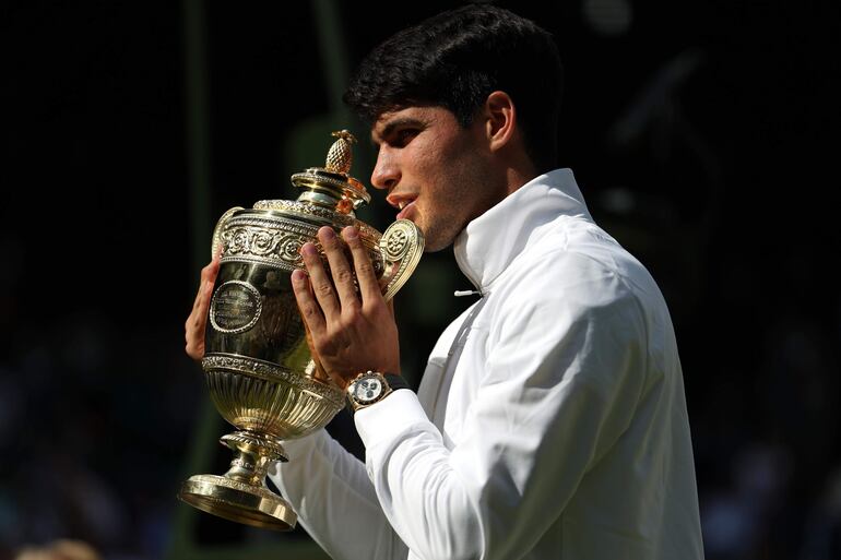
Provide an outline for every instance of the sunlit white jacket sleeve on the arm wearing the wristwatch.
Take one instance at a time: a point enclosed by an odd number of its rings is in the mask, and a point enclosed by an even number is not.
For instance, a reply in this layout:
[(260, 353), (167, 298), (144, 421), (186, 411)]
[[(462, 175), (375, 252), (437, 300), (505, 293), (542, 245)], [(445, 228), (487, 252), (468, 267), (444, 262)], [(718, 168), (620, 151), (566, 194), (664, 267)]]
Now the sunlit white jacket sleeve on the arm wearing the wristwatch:
[(355, 415), (379, 502), (413, 555), (519, 558), (558, 519), (642, 389), (644, 321), (624, 291), (605, 273), (541, 300), (510, 295), (486, 361), (455, 370), (481, 381), (449, 449), (407, 390)]

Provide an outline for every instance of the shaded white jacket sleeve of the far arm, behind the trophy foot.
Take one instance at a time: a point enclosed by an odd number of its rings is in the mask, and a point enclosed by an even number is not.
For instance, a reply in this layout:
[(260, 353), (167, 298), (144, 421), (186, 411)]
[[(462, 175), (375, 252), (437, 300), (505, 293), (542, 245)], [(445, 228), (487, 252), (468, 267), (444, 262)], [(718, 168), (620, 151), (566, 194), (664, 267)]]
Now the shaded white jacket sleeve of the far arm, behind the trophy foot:
[(289, 455), (272, 481), (298, 514), (307, 533), (336, 560), (406, 558), (363, 463), (327, 430), (284, 442)]

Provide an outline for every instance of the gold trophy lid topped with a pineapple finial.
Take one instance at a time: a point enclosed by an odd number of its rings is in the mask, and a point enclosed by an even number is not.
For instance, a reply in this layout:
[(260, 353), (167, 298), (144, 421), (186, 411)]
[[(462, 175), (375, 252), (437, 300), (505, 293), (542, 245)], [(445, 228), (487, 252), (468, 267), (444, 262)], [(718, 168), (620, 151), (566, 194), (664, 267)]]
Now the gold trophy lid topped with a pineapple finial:
[(353, 152), (351, 145), (356, 142), (351, 132), (340, 130), (332, 133), (337, 140), (330, 146), (324, 167), (310, 167), (292, 176), (292, 183), (306, 189), (298, 196), (301, 202), (327, 206), (342, 214), (347, 214), (371, 200), (365, 186), (351, 177)]

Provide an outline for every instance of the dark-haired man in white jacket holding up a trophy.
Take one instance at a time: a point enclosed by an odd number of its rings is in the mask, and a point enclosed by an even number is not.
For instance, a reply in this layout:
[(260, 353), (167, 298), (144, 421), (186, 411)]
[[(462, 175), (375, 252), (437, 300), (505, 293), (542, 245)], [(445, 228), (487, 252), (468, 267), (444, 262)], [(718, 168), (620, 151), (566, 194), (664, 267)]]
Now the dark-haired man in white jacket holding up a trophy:
[[(301, 249), (293, 288), (313, 352), (352, 386), (366, 462), (322, 430), (286, 443), (273, 480), (334, 558), (702, 557), (668, 311), (554, 169), (560, 82), (546, 32), (481, 4), (387, 40), (345, 95), (372, 124), (372, 184), (428, 250), (454, 243), (482, 297), (415, 395), (358, 233), (341, 233), (348, 262), (319, 231), (332, 276)], [(188, 320), (197, 358), (209, 295)]]

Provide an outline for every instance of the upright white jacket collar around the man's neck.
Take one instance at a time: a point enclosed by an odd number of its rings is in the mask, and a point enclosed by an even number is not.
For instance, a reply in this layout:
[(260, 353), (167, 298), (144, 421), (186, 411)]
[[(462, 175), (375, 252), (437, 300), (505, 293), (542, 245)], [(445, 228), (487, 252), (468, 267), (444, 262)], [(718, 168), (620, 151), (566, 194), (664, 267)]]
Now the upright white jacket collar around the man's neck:
[(489, 291), (525, 246), (541, 237), (541, 226), (560, 215), (592, 221), (571, 169), (535, 177), (467, 224), (455, 238), (455, 262), (479, 291)]

